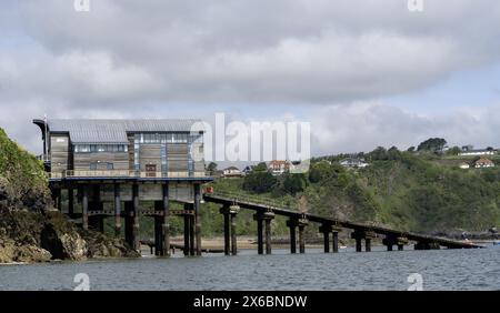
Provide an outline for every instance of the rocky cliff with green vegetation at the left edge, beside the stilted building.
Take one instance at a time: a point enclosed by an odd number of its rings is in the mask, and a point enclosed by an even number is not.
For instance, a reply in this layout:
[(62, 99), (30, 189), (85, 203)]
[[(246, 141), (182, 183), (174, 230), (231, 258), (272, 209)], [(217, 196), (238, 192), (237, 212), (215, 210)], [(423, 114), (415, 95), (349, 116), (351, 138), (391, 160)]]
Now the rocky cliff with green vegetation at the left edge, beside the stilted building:
[(50, 203), (42, 164), (0, 129), (0, 263), (140, 256), (122, 240), (78, 229)]

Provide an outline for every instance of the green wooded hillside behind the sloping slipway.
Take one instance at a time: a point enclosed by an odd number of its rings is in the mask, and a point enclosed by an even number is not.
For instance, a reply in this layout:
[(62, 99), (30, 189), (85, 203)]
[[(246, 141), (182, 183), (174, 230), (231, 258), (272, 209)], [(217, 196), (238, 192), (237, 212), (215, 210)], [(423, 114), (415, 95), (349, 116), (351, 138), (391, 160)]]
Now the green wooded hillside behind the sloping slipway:
[(499, 168), (463, 170), (444, 156), (396, 150), (363, 156), (370, 165), (358, 170), (341, 166), (339, 156), (314, 159), (309, 173), (294, 179), (299, 183), (293, 192), (283, 188), (287, 175), (259, 193), (242, 190), (246, 179), (213, 185), (217, 191), (239, 190), (298, 203), (312, 213), (408, 231), (487, 231), (500, 224)]

